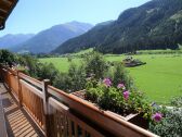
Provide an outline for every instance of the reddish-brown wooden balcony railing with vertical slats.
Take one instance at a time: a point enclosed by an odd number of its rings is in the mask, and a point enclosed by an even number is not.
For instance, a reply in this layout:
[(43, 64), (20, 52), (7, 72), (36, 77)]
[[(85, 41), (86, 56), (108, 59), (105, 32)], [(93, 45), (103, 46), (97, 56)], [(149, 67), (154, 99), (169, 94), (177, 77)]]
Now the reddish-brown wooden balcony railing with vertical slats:
[(22, 72), (0, 66), (0, 74), (47, 137), (156, 137), (157, 135), (92, 103), (37, 80)]

